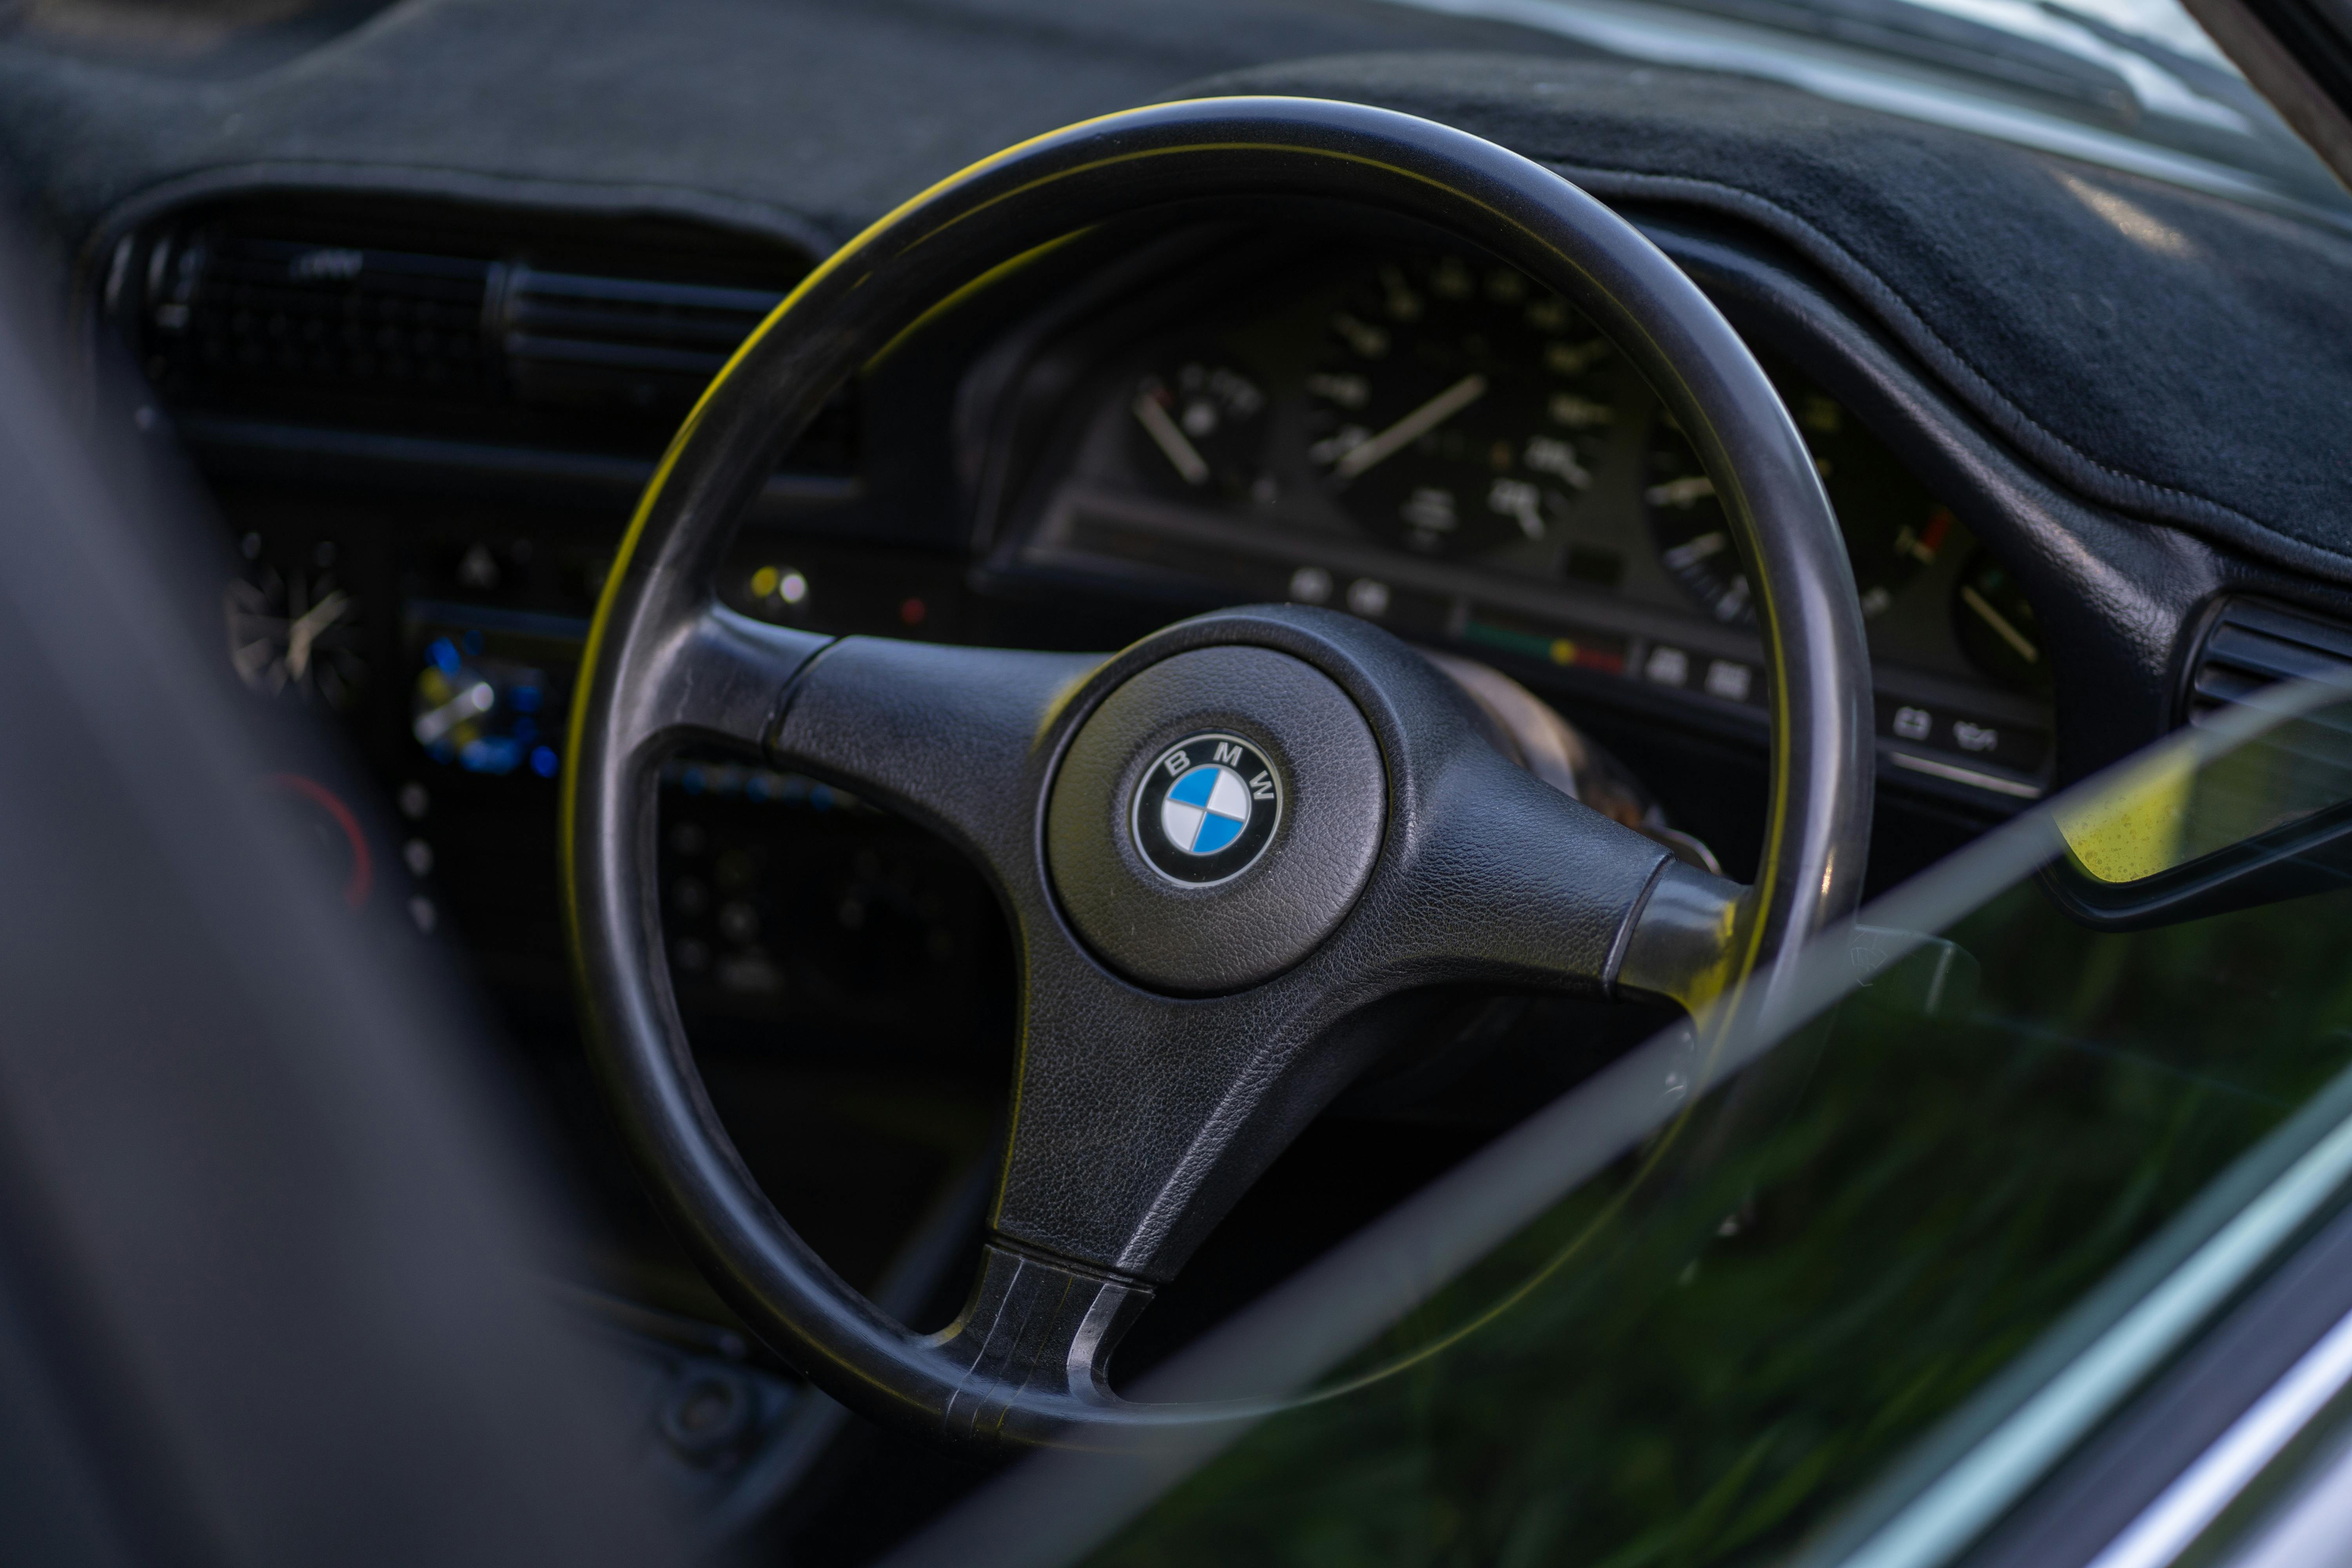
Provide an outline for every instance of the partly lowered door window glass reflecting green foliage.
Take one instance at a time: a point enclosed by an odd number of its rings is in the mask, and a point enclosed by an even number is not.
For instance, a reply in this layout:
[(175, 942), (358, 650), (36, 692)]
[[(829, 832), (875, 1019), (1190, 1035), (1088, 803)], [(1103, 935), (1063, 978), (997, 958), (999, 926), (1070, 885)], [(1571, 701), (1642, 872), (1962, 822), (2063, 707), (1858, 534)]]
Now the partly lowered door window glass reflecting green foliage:
[(2347, 802), (2340, 689), (2067, 792), (1148, 1378), (1138, 1453), (1047, 1455), (946, 1540), (1947, 1561), (2352, 1178)]

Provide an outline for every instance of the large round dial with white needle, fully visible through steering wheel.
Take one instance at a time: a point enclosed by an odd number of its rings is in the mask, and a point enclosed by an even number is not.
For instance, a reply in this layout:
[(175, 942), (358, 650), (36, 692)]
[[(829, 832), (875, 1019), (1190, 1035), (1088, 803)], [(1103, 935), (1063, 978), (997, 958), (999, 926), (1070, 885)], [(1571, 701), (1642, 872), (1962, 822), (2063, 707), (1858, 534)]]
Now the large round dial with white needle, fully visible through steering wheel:
[(1609, 343), (1524, 273), (1385, 261), (1331, 308), (1308, 461), (1369, 534), (1425, 555), (1548, 545), (1616, 421)]

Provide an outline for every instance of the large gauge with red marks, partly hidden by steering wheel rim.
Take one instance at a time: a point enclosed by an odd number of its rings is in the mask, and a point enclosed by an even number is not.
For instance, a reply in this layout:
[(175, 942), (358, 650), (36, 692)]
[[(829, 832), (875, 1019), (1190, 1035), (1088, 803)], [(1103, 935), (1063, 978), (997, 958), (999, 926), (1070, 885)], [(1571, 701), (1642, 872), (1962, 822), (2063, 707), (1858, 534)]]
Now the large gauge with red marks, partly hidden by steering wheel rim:
[[(1830, 491), (1853, 562), (1863, 616), (1877, 618), (1905, 583), (1936, 564), (1957, 522), (1912, 480), (1900, 458), (1872, 440), (1832, 397), (1785, 369), (1773, 371), (1773, 383), (1797, 416), (1797, 430), (1813, 454), (1823, 489)], [(1665, 414), (1658, 414), (1649, 435), (1642, 510), (1649, 515), (1658, 562), (1684, 592), (1717, 621), (1752, 625), (1748, 569), (1731, 545), (1731, 527), (1715, 496), (1715, 482), (1698, 465), (1689, 437)]]

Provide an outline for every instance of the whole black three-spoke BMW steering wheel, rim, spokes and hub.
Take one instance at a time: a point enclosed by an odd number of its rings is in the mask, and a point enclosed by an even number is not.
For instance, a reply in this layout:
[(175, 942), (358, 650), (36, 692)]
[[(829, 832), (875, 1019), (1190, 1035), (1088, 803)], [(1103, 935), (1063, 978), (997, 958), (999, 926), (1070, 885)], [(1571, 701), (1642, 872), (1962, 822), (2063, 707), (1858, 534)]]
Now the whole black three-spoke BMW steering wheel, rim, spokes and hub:
[[(739, 616), (734, 524), (826, 397), (938, 301), (1108, 219), (1319, 197), (1437, 226), (1557, 289), (1689, 433), (1755, 583), (1771, 818), (1755, 886), (1512, 766), (1388, 632), (1305, 607), (1110, 658), (828, 639)], [(917, 1335), (753, 1182), (696, 1074), (654, 886), (663, 755), (727, 741), (927, 823), (995, 882), (1018, 1070), (978, 1281)], [(1244, 1187), (1395, 1044), (1390, 999), (1491, 983), (1689, 1009), (1755, 994), (1851, 910), (1870, 832), (1853, 574), (1778, 395), (1658, 249), (1463, 132), (1312, 99), (1091, 120), (934, 186), (826, 261), (661, 461), (572, 710), (562, 860), (590, 1051), (713, 1284), (844, 1403), (983, 1448), (1148, 1420), (1120, 1335)]]

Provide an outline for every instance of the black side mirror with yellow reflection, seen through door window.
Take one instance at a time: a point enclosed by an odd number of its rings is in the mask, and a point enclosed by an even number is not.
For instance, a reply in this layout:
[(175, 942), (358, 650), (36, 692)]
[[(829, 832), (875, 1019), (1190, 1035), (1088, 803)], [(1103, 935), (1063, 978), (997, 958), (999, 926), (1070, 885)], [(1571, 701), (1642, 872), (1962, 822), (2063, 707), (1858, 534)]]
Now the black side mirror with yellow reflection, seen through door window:
[(2098, 931), (2143, 931), (2352, 884), (2352, 693), (2253, 693), (2053, 806), (2042, 886)]

